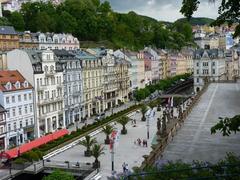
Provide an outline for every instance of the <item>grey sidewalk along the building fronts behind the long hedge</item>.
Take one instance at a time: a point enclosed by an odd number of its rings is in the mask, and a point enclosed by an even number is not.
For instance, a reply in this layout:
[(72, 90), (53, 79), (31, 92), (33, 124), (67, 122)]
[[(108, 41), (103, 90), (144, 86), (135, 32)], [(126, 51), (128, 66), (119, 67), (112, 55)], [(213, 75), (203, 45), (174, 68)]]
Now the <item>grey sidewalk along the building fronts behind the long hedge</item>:
[[(130, 106), (133, 106), (133, 105), (134, 105), (134, 101), (126, 102), (125, 104), (123, 104), (123, 105), (121, 105), (119, 107), (114, 108), (113, 109), (113, 113), (117, 113), (117, 112), (122, 111), (124, 109), (127, 109), (127, 108), (129, 108)], [(111, 116), (112, 115), (112, 110), (111, 109), (107, 110), (105, 112), (105, 115), (106, 115), (106, 117), (107, 116)], [(94, 123), (95, 122), (95, 118), (96, 118), (95, 116), (92, 116), (92, 117), (88, 118), (85, 122), (76, 122), (77, 124), (75, 123), (73, 126), (70, 126), (67, 129), (68, 129), (69, 132), (76, 131), (76, 126), (79, 129), (81, 129), (85, 125), (85, 123), (87, 123), (87, 124)]]

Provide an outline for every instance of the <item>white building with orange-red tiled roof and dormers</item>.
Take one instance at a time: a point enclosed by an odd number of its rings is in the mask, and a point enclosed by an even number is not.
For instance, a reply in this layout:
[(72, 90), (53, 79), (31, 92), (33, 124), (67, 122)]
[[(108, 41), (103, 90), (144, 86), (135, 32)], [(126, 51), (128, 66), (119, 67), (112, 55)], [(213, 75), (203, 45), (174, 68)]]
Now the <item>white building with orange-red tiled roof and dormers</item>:
[(16, 70), (0, 71), (0, 104), (6, 109), (6, 146), (34, 139), (32, 85)]

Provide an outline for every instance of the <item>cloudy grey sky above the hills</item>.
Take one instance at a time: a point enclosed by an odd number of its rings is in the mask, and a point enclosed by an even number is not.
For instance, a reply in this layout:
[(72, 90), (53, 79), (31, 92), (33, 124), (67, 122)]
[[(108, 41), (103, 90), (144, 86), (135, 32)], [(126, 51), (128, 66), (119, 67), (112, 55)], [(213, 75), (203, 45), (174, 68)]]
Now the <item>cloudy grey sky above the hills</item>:
[[(103, 0), (104, 1), (104, 0)], [(117, 12), (135, 11), (138, 14), (147, 15), (157, 20), (175, 21), (182, 16), (179, 13), (182, 0), (107, 0)], [(216, 18), (219, 0), (215, 4), (209, 4), (208, 0), (201, 0), (201, 4), (194, 17)]]

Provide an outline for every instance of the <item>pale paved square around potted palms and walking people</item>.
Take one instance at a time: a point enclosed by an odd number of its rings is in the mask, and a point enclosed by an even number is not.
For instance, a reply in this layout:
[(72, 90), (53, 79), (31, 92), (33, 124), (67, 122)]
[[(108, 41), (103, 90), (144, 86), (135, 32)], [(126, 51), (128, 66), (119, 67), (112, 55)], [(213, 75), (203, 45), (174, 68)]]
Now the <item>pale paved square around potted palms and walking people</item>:
[[(156, 134), (157, 128), (156, 118), (160, 116), (160, 112), (157, 112), (154, 120), (150, 121), (150, 139), (148, 140), (148, 147), (139, 146), (134, 144), (138, 138), (141, 140), (147, 140), (147, 128), (146, 122), (141, 121), (141, 113), (135, 113), (131, 118), (136, 119), (137, 126), (133, 127), (131, 122), (127, 124), (127, 135), (120, 135), (119, 141), (117, 142), (115, 148), (115, 170), (117, 173), (122, 172), (122, 164), (125, 162), (128, 164), (129, 169), (134, 166), (140, 166), (142, 161), (144, 160), (143, 155), (148, 155), (151, 151), (151, 142)], [(121, 125), (116, 124), (115, 127), (118, 130), (121, 130)], [(104, 143), (105, 135), (100, 133), (96, 135), (97, 141), (99, 143)], [(103, 179), (107, 179), (107, 176), (111, 175), (111, 153), (109, 145), (104, 145), (105, 154), (102, 155), (99, 160), (101, 162), (101, 174)], [(58, 154), (52, 158), (51, 160), (55, 161), (70, 161), (70, 162), (93, 162), (93, 157), (84, 157), (85, 148), (81, 145), (77, 145), (61, 154)]]

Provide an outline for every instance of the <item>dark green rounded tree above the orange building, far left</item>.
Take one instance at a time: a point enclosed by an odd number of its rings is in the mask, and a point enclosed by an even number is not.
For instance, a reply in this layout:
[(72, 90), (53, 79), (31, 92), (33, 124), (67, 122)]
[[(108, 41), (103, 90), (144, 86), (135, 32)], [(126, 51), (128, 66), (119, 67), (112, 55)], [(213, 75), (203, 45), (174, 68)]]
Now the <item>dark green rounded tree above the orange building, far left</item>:
[(23, 19), (23, 16), (21, 13), (16, 12), (16, 11), (11, 13), (11, 15), (9, 17), (9, 21), (16, 30), (24, 31), (25, 22), (24, 22), (24, 19)]

